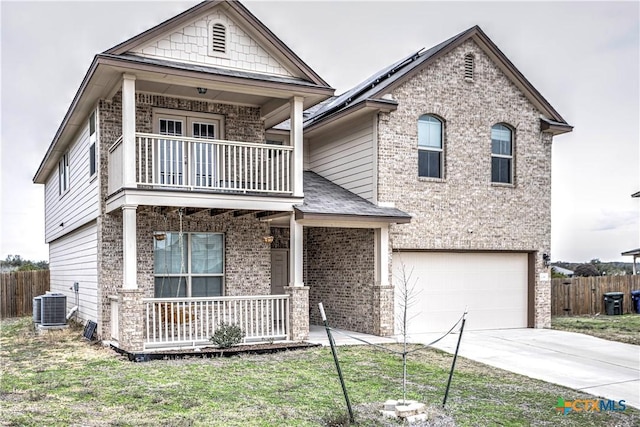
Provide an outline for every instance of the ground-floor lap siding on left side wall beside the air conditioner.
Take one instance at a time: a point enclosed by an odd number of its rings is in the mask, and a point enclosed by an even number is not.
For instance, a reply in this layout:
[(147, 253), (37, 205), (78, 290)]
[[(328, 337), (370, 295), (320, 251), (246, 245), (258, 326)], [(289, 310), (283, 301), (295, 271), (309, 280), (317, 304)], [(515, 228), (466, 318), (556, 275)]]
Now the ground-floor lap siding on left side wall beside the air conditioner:
[[(78, 305), (78, 318), (97, 320), (98, 227), (95, 222), (49, 244), (51, 291), (67, 296), (67, 309)], [(76, 295), (71, 289), (79, 283)]]

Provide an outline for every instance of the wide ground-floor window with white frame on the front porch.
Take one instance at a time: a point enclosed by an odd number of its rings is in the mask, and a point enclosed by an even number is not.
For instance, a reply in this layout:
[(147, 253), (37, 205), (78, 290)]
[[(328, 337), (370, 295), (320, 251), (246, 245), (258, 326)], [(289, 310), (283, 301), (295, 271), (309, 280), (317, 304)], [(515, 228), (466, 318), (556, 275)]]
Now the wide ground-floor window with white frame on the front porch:
[(156, 298), (214, 297), (224, 294), (222, 233), (162, 235), (164, 239), (154, 239)]

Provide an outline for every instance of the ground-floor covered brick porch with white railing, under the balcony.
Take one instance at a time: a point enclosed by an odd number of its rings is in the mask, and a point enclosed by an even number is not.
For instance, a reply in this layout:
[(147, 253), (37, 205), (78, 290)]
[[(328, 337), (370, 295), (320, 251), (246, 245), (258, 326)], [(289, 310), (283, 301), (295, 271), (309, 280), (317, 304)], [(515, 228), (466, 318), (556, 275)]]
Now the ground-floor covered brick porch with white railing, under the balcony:
[[(135, 251), (105, 262), (102, 336), (127, 352), (211, 346), (224, 324), (239, 326), (244, 343), (300, 341), (308, 334), (308, 288), (302, 283), (302, 246), (291, 242), (287, 276), (272, 286), (273, 216), (241, 209), (138, 206), (131, 209)], [(109, 215), (119, 240), (126, 211)], [(135, 258), (132, 254), (135, 254)], [(134, 281), (124, 277), (131, 263)], [(296, 281), (296, 277), (298, 280)], [(135, 284), (135, 287), (131, 286)]]

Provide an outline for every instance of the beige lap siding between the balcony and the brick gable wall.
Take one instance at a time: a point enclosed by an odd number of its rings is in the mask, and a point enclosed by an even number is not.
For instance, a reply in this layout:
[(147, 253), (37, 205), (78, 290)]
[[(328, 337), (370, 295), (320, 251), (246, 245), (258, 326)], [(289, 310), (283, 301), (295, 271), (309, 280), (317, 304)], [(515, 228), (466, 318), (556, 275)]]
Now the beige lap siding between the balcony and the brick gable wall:
[(373, 119), (310, 139), (309, 169), (375, 203)]

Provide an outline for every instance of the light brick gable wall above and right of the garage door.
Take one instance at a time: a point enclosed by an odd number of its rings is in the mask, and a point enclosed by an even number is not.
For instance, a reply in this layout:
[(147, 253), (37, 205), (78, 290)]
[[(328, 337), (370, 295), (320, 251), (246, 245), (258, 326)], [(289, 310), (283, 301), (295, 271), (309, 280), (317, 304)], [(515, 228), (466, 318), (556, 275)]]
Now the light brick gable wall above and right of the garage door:
[[(472, 82), (464, 56), (475, 58)], [(378, 122), (378, 200), (413, 215), (394, 225), (394, 249), (536, 254), (535, 326), (550, 326), (550, 282), (540, 282), (551, 236), (551, 140), (540, 112), (471, 40), (392, 91), (398, 109)], [(444, 177), (418, 177), (417, 120), (444, 121)], [(491, 183), (491, 127), (514, 131), (514, 183)]]

